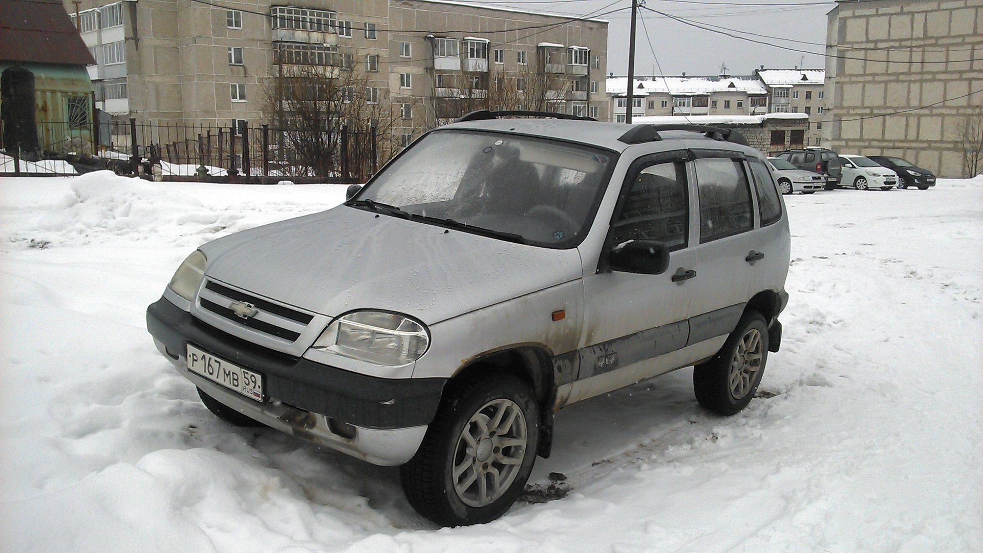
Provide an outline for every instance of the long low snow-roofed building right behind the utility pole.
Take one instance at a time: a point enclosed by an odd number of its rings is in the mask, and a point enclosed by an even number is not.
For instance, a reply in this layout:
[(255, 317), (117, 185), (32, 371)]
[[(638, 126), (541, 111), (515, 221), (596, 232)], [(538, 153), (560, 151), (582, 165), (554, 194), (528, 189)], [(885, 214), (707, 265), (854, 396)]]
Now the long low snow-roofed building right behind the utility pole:
[[(623, 123), (627, 78), (607, 79), (609, 120)], [(636, 77), (632, 118), (664, 115), (759, 115), (767, 112), (768, 91), (752, 77)]]

